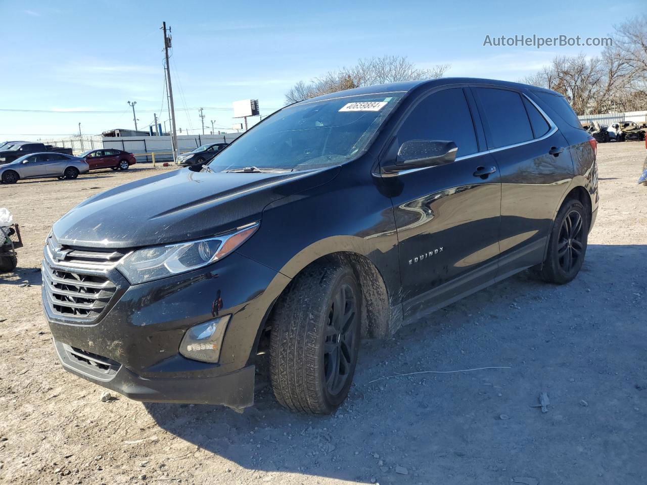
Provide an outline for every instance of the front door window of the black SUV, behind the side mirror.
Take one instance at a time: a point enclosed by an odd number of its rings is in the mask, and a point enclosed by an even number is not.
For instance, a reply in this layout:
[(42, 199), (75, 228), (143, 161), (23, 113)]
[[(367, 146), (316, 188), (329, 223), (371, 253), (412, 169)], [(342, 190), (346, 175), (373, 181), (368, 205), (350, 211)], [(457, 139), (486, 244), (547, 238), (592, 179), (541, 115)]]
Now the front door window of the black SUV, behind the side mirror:
[(443, 89), (418, 103), (398, 131), (400, 145), (409, 140), (447, 140), (458, 147), (456, 156), (476, 153), (474, 123), (463, 89)]

